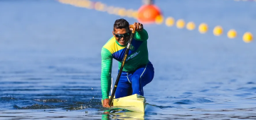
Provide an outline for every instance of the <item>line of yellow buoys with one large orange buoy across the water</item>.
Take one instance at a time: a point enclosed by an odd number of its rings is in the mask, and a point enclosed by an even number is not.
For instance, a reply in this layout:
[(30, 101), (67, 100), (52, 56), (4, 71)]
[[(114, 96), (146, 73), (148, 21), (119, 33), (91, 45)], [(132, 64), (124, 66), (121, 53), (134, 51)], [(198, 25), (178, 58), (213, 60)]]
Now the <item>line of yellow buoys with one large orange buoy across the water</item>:
[[(192, 21), (188, 23), (186, 23), (186, 21), (183, 19), (179, 19), (175, 21), (175, 19), (172, 17), (167, 17), (165, 19), (164, 16), (161, 15), (159, 8), (157, 8), (154, 5), (142, 6), (139, 9), (139, 11), (136, 11), (134, 9), (107, 6), (106, 4), (102, 4), (99, 1), (97, 2), (90, 1), (90, 0), (58, 0), (58, 1), (62, 4), (70, 4), (76, 7), (95, 9), (96, 11), (107, 12), (117, 16), (134, 18), (136, 20), (148, 20), (147, 22), (149, 23), (162, 24), (165, 22), (167, 27), (172, 27), (176, 24), (176, 28), (178, 29), (183, 29), (185, 27), (188, 30), (196, 29), (196, 24), (193, 23)], [(256, 1), (256, 0), (235, 0), (235, 1)], [(201, 23), (200, 25), (198, 25), (198, 31), (201, 34), (208, 32), (208, 25), (206, 23)], [(223, 28), (220, 25), (218, 25), (213, 29), (213, 35), (221, 36), (223, 35), (223, 31), (224, 31)], [(238, 37), (238, 33), (234, 29), (228, 30), (227, 37), (230, 39), (234, 39), (235, 37)], [(246, 43), (252, 42), (253, 40), (252, 33), (245, 32), (242, 35), (242, 40)]]

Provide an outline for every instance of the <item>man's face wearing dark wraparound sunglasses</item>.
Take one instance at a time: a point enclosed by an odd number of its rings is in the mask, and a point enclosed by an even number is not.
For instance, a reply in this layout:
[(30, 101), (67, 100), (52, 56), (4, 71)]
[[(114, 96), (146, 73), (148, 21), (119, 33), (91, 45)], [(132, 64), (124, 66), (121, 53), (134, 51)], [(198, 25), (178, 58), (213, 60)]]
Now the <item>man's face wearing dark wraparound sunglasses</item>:
[(129, 32), (129, 28), (125, 29), (116, 29), (114, 28), (114, 31), (112, 32), (114, 37), (116, 38), (117, 42), (121, 45), (126, 45), (131, 32)]

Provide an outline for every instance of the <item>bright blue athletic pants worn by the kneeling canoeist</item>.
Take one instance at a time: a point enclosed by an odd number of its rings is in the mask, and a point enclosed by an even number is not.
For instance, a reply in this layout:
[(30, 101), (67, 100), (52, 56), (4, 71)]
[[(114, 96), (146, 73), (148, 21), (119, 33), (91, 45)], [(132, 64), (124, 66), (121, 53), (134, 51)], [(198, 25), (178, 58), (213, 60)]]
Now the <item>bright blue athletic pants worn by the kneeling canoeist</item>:
[(122, 71), (117, 85), (115, 97), (126, 97), (129, 95), (144, 95), (143, 87), (150, 83), (154, 78), (154, 67), (149, 62), (144, 66), (140, 66), (134, 72)]

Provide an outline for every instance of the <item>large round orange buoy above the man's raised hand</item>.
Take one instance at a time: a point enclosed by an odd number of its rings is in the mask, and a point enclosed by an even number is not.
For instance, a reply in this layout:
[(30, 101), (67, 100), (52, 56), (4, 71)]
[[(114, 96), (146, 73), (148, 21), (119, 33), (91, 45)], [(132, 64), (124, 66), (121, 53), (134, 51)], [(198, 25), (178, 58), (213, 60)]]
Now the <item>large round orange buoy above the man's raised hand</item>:
[(138, 10), (139, 23), (154, 23), (157, 16), (160, 16), (159, 8), (153, 4), (144, 5)]

